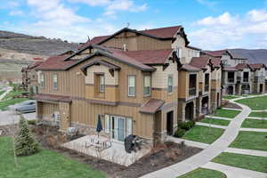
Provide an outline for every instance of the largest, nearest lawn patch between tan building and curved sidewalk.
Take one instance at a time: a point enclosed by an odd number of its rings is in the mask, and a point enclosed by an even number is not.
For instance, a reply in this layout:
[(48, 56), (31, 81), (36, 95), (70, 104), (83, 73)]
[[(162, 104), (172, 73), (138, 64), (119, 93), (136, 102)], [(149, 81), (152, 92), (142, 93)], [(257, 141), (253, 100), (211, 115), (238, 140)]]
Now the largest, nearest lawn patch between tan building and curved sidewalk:
[(184, 134), (182, 138), (190, 141), (210, 144), (217, 140), (223, 134), (223, 131), (224, 130), (221, 128), (195, 125), (186, 134)]

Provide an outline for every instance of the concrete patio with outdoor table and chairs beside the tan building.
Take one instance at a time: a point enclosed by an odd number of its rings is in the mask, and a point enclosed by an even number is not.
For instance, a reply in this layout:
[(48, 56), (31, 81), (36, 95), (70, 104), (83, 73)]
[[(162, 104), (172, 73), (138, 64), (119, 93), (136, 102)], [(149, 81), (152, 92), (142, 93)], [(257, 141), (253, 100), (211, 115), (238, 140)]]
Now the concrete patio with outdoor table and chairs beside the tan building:
[[(150, 153), (151, 148), (143, 146), (142, 150), (138, 150), (137, 152), (133, 151), (131, 154), (129, 154), (125, 152), (125, 145), (122, 142), (111, 142), (111, 147), (102, 151), (98, 151), (97, 148), (93, 146), (86, 147), (85, 144), (88, 144), (91, 138), (95, 138), (95, 136), (96, 135), (86, 135), (72, 142), (64, 143), (62, 146), (70, 150), (77, 150), (78, 152), (82, 152), (86, 155), (105, 159), (123, 166), (130, 166), (136, 160)], [(106, 138), (100, 137), (100, 139)]]

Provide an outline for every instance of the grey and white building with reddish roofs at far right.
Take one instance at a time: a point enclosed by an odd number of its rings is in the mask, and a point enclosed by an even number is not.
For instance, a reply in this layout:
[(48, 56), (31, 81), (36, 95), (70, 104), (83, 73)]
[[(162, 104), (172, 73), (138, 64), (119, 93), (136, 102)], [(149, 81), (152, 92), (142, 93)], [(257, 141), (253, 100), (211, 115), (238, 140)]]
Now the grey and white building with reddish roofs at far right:
[(248, 60), (231, 50), (206, 51), (223, 63), (223, 94), (264, 93), (266, 67), (264, 64), (249, 64)]

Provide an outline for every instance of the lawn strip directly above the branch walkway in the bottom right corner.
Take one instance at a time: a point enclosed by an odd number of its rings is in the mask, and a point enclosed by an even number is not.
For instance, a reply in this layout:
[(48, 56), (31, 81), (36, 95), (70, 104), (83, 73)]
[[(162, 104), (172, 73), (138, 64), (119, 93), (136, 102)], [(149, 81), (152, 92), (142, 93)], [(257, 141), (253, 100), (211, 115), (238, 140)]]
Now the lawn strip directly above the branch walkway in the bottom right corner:
[(267, 158), (223, 152), (213, 162), (267, 173)]

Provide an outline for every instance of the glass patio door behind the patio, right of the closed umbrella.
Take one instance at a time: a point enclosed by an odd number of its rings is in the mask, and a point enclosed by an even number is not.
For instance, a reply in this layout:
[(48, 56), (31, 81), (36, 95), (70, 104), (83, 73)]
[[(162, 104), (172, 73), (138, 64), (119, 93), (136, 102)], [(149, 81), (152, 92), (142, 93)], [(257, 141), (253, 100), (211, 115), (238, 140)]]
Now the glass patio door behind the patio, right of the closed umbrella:
[(125, 141), (125, 117), (111, 117), (111, 137), (119, 142)]

